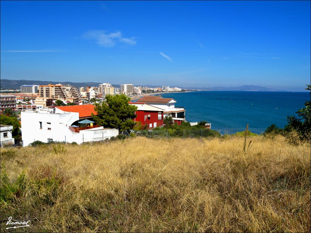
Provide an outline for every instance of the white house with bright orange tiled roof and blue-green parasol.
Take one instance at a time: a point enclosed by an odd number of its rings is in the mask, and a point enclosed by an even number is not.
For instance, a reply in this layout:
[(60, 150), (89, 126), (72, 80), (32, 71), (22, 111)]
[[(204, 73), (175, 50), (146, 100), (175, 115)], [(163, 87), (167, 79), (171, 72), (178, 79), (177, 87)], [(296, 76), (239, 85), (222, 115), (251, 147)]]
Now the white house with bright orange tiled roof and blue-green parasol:
[(23, 146), (28, 146), (36, 140), (42, 142), (76, 142), (81, 144), (82, 142), (100, 141), (117, 136), (117, 129), (78, 123), (87, 118), (91, 119), (90, 109), (94, 111), (94, 106), (90, 105), (42, 108), (38, 111), (21, 112)]

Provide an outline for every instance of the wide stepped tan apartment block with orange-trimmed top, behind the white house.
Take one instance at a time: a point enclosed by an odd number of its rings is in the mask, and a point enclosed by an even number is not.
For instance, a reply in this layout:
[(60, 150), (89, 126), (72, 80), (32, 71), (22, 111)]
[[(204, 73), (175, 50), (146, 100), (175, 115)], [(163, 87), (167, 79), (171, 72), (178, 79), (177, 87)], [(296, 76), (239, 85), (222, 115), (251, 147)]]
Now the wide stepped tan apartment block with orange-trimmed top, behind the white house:
[(54, 99), (78, 99), (81, 100), (81, 94), (76, 87), (71, 85), (42, 85), (39, 86), (40, 97)]

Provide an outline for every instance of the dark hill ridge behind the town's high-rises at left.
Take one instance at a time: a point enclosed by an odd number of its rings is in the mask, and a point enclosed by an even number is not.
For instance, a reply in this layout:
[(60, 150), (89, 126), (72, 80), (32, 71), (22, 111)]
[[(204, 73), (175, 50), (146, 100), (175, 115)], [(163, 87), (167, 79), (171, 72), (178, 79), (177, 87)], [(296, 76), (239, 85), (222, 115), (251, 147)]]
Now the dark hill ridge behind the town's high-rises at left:
[[(94, 82), (84, 82), (84, 83), (73, 83), (73, 82), (53, 82), (53, 81), (36, 81), (36, 80), (9, 80), (9, 79), (1, 79), (0, 80), (0, 89), (20, 89), (21, 85), (48, 85), (48, 84), (69, 84), (74, 87), (98, 87), (101, 83)], [(121, 85), (113, 84), (114, 87), (120, 88)]]

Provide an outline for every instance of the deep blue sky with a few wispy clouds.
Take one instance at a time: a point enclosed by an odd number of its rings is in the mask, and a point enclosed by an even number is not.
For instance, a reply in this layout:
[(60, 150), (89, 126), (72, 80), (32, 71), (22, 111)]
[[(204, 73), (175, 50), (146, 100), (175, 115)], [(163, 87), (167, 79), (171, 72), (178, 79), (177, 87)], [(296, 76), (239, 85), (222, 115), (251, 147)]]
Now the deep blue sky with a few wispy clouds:
[(310, 84), (310, 1), (1, 1), (1, 79)]

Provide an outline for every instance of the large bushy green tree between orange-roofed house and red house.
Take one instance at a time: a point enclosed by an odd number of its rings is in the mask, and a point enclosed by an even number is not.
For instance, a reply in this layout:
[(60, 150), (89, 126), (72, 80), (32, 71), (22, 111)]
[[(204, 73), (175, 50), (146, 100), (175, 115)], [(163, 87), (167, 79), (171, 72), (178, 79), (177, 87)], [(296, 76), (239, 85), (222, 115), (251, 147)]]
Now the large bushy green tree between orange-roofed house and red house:
[(130, 130), (135, 125), (137, 107), (128, 104), (130, 98), (126, 95), (106, 95), (106, 101), (95, 103), (97, 116), (92, 114), (94, 121), (104, 127), (116, 128), (120, 131)]

